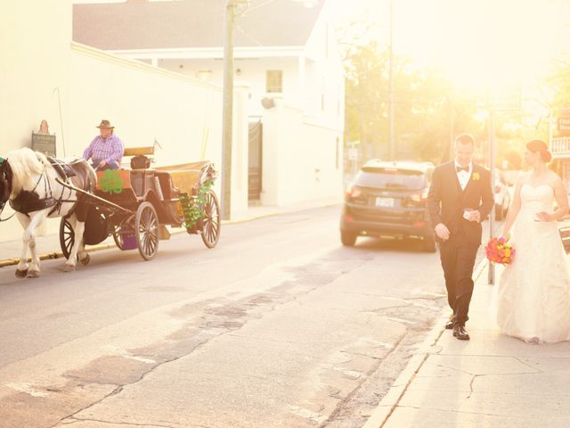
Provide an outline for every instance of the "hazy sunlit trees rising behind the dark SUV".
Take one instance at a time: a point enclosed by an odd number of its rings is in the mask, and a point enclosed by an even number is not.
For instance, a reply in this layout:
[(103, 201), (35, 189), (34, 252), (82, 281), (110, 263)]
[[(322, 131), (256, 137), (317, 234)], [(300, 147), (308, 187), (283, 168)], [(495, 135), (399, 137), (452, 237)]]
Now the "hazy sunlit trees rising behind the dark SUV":
[[(375, 43), (353, 45), (346, 54), (346, 141), (359, 141), (361, 154), (387, 158), (389, 141), (389, 50)], [(394, 56), (396, 158), (446, 161), (452, 136), (469, 132), (486, 138), (476, 95), (458, 93), (441, 70), (421, 69)]]

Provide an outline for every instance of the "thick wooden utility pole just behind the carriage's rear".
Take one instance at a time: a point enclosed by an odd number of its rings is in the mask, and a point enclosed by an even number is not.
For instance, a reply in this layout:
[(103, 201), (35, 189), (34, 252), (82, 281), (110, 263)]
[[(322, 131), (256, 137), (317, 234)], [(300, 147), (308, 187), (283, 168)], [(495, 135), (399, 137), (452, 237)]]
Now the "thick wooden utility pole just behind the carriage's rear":
[(224, 40), (224, 111), (222, 130), (222, 219), (229, 220), (232, 212), (232, 122), (233, 122), (233, 21), (235, 0), (225, 8)]

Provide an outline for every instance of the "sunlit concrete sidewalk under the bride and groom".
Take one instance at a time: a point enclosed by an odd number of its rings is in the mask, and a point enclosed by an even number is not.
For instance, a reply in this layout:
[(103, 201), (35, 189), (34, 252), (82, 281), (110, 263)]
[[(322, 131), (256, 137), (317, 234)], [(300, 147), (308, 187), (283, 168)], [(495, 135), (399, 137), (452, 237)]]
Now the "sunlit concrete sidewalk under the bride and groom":
[(536, 345), (505, 336), (488, 308), (486, 260), (476, 271), (470, 341), (441, 319), (364, 428), (567, 427), (570, 342)]

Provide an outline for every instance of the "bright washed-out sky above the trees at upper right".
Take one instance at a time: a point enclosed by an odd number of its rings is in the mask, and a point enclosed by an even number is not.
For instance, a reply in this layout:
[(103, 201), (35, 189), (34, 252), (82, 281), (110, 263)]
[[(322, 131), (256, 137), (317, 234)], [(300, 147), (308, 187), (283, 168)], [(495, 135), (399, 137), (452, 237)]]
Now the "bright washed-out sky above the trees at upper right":
[[(332, 0), (337, 21), (371, 21), (389, 35), (389, 0)], [(395, 53), (442, 67), (459, 86), (532, 84), (570, 58), (570, 0), (394, 0)]]

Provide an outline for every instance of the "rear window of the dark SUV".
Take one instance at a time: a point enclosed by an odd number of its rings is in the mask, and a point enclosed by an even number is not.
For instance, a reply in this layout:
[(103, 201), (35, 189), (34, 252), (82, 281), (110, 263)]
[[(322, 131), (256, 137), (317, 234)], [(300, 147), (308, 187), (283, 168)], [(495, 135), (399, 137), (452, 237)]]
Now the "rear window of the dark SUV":
[(380, 189), (421, 189), (427, 185), (425, 173), (398, 168), (363, 168), (354, 184)]

